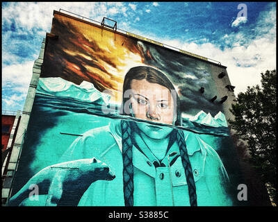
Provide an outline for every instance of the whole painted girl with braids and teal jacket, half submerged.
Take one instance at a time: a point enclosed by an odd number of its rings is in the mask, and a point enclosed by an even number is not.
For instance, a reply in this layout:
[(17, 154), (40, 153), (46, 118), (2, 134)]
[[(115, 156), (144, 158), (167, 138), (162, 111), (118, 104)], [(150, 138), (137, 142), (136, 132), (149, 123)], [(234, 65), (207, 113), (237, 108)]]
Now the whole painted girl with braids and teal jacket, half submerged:
[[(182, 126), (179, 106), (174, 85), (161, 71), (148, 66), (129, 69), (121, 114), (136, 119), (123, 118), (87, 131), (60, 159), (70, 162), (95, 157), (110, 167), (115, 178), (80, 181), (88, 183), (88, 189), (75, 196), (74, 203), (72, 198), (56, 199), (55, 203), (232, 205), (226, 187), (229, 178), (218, 154), (197, 135), (175, 127)], [(67, 180), (74, 180), (74, 173)]]

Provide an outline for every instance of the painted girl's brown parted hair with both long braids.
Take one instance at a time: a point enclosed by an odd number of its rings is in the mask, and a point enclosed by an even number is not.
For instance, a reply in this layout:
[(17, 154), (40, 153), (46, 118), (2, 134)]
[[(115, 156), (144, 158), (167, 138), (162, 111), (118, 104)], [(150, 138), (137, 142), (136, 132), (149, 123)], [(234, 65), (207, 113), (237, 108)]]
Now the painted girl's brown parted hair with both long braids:
[[(129, 69), (124, 77), (123, 96), (122, 96), (122, 107), (121, 114), (131, 116), (129, 112), (129, 98), (124, 96), (124, 92), (127, 89), (131, 89), (131, 80), (147, 80), (149, 83), (157, 83), (170, 90), (172, 97), (176, 99), (177, 104), (174, 109), (176, 112), (177, 120), (174, 122), (175, 126), (181, 126), (181, 112), (180, 102), (177, 91), (174, 89), (171, 81), (161, 71), (147, 66), (138, 66)], [(133, 164), (132, 164), (132, 141), (131, 141), (131, 122), (122, 119), (122, 160), (123, 160), (123, 180), (124, 180), (124, 204), (126, 206), (133, 206)], [(188, 152), (186, 148), (186, 142), (184, 139), (183, 131), (174, 129), (177, 134), (177, 144), (179, 145), (179, 151), (181, 155), (181, 162), (186, 174), (186, 181), (188, 184), (188, 194), (190, 197), (190, 205), (197, 206), (197, 196), (195, 181), (193, 178), (193, 171), (188, 158)]]

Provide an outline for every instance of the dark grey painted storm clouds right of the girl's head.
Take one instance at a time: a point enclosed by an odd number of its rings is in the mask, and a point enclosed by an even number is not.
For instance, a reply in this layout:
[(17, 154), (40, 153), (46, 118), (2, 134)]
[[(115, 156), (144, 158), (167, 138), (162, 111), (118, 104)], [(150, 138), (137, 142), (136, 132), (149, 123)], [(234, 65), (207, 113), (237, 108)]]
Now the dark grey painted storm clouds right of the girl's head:
[[(215, 115), (222, 111), (218, 103), (211, 102), (215, 96), (210, 91), (215, 87), (211, 77), (211, 65), (140, 41), (138, 48), (141, 49), (145, 63), (161, 69), (177, 87), (182, 112), (195, 115), (199, 110), (203, 110)], [(204, 94), (199, 91), (201, 87), (205, 89)]]

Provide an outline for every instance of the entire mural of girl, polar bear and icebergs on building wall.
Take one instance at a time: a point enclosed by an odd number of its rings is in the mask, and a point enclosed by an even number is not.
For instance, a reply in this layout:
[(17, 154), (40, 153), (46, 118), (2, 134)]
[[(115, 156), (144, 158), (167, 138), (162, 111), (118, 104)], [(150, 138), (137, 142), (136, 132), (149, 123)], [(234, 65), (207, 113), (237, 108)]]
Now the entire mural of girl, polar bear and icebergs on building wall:
[(60, 13), (51, 33), (9, 205), (240, 204), (210, 63)]

